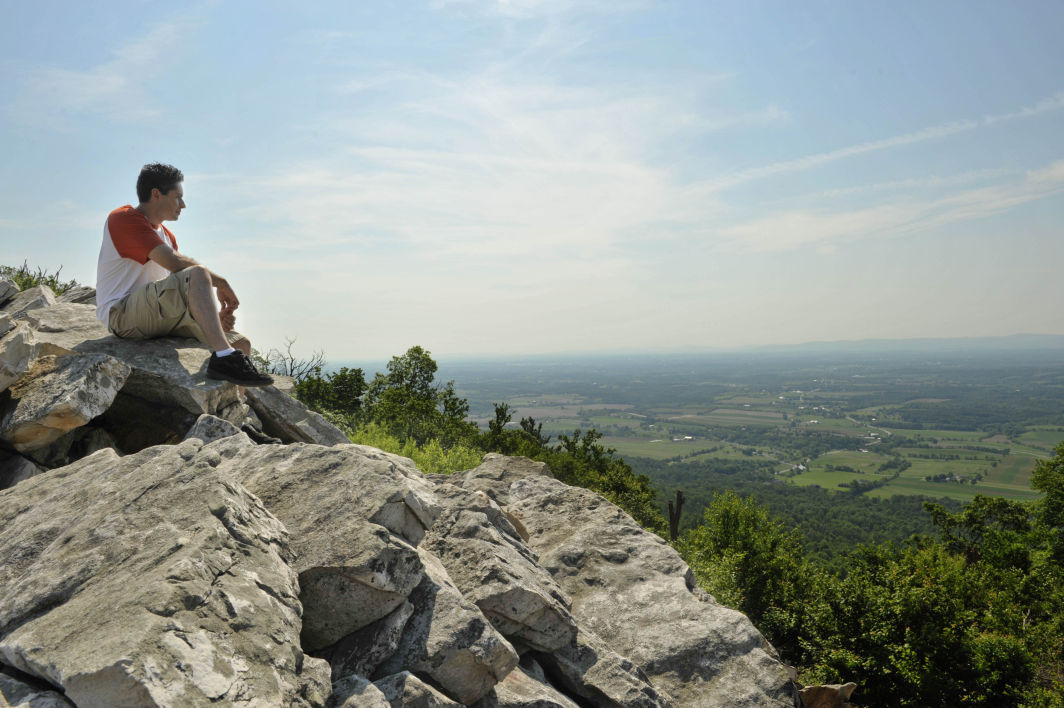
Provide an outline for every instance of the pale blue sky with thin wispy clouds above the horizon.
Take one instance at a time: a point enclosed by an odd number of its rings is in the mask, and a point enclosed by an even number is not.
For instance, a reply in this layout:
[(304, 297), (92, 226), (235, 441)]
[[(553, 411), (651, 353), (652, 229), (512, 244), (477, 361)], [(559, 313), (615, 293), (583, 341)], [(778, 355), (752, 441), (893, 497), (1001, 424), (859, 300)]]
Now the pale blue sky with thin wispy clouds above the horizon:
[(0, 262), (140, 165), (255, 346), (1064, 333), (1059, 2), (3, 3)]

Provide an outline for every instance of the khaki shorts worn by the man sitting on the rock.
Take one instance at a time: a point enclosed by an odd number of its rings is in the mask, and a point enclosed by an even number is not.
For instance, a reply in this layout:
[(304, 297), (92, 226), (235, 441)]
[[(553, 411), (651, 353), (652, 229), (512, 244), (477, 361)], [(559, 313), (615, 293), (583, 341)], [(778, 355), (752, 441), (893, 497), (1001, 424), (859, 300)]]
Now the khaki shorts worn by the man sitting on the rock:
[[(107, 329), (115, 336), (148, 340), (155, 336), (188, 336), (206, 344), (203, 330), (188, 312), (188, 269), (135, 290), (111, 306)], [(232, 344), (244, 339), (238, 332), (226, 332)]]

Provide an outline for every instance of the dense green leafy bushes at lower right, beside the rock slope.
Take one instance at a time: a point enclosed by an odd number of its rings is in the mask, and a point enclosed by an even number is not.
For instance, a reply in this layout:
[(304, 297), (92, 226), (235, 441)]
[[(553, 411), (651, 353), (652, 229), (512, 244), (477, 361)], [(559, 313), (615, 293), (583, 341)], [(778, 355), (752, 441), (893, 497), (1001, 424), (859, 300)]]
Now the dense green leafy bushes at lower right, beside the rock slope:
[(869, 706), (1064, 706), (1064, 444), (1033, 484), (1037, 503), (927, 505), (938, 538), (861, 547), (845, 577), (732, 493), (678, 548), (805, 682), (857, 681)]

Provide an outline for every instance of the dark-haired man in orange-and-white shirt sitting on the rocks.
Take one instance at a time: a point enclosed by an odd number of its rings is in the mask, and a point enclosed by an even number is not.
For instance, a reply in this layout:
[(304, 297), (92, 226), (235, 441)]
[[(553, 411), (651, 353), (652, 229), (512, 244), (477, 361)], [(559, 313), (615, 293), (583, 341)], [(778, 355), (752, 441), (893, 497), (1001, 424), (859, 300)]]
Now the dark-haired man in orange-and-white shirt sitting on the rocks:
[(269, 385), (273, 379), (248, 357), (251, 343), (233, 331), (239, 300), (229, 281), (181, 253), (163, 226), (178, 220), (185, 208), (183, 181), (177, 167), (145, 165), (136, 180), (139, 203), (107, 216), (96, 270), (96, 316), (116, 336), (196, 337), (213, 351), (209, 379)]

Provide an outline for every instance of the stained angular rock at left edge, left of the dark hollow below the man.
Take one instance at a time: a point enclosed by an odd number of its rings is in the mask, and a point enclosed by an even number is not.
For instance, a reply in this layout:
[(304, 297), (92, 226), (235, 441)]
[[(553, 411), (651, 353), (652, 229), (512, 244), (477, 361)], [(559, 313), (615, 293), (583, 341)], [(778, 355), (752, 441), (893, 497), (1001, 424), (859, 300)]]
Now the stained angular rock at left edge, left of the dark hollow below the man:
[(0, 438), (19, 452), (40, 449), (107, 410), (130, 375), (114, 357), (40, 357), (11, 388)]

